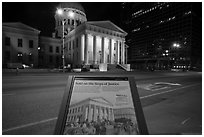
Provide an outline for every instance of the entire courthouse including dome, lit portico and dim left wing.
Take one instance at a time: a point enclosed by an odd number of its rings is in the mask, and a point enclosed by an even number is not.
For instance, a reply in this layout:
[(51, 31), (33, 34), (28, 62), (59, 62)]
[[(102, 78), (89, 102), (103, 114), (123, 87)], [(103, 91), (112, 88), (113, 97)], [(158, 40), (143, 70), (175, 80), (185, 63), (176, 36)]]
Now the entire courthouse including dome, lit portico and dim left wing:
[(39, 30), (23, 23), (3, 23), (3, 66), (80, 68), (82, 64), (127, 63), (124, 30), (111, 21), (87, 21), (77, 2), (62, 2), (58, 9), (52, 37), (39, 36)]

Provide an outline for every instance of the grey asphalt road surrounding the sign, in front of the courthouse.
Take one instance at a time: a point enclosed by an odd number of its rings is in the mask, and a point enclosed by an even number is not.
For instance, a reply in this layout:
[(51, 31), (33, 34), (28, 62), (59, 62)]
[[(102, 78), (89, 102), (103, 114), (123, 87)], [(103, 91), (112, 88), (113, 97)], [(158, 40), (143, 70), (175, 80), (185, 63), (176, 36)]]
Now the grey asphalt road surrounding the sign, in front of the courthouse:
[[(2, 134), (53, 134), (68, 75), (3, 75)], [(150, 134), (202, 134), (202, 73), (120, 75), (135, 77)]]

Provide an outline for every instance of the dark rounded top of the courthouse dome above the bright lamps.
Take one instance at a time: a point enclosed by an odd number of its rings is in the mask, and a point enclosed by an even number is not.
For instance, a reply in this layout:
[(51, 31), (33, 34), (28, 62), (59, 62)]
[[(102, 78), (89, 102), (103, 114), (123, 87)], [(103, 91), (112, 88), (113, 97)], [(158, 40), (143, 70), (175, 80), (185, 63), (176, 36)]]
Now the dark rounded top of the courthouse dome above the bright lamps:
[(61, 2), (59, 4), (60, 8), (73, 8), (73, 9), (78, 9), (82, 12), (85, 13), (84, 8), (82, 7), (82, 5), (79, 2)]

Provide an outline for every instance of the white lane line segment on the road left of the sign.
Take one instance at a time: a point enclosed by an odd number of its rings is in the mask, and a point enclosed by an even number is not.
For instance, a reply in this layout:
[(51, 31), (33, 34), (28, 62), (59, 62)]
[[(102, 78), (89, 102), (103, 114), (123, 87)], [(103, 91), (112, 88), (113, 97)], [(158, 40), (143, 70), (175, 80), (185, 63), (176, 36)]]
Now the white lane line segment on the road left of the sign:
[(4, 130), (2, 130), (2, 133), (12, 131), (12, 130), (17, 130), (17, 129), (20, 129), (20, 128), (25, 128), (25, 127), (29, 127), (29, 126), (34, 126), (34, 125), (46, 123), (46, 122), (53, 121), (53, 120), (57, 120), (57, 117), (50, 118), (50, 119), (45, 119), (45, 120), (41, 120), (41, 121), (37, 121), (37, 122), (25, 124), (25, 125), (20, 125), (20, 126), (9, 128), (9, 129), (4, 129)]

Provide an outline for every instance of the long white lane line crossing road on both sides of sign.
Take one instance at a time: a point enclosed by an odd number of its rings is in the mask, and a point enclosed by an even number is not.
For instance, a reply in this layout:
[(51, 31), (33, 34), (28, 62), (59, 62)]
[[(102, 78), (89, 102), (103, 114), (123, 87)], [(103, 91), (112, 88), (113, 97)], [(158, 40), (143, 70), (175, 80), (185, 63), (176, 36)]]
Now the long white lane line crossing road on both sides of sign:
[[(180, 88), (176, 88), (176, 89), (172, 89), (172, 90), (168, 90), (168, 91), (164, 91), (164, 92), (159, 92), (159, 93), (143, 96), (143, 97), (140, 97), (140, 99), (144, 99), (144, 98), (148, 98), (148, 97), (152, 97), (152, 96), (156, 96), (156, 95), (160, 95), (160, 94), (164, 94), (164, 93), (168, 93), (168, 92), (173, 92), (175, 90), (192, 87), (192, 86), (196, 86), (196, 85), (199, 85), (199, 84), (200, 83), (196, 83), (196, 84), (192, 84), (192, 85), (188, 85), (188, 86), (184, 86), (184, 87), (180, 87)], [(4, 129), (4, 130), (2, 130), (2, 133), (9, 132), (9, 131), (12, 131), (12, 130), (21, 129), (21, 128), (26, 128), (26, 127), (29, 127), (29, 126), (34, 126), (34, 125), (38, 125), (38, 124), (42, 124), (42, 123), (46, 123), (46, 122), (50, 122), (50, 121), (53, 121), (53, 120), (57, 120), (57, 117), (50, 118), (50, 119), (45, 119), (45, 120), (41, 120), (41, 121), (37, 121), (37, 122), (25, 124), (25, 125), (20, 125), (20, 126), (9, 128), (9, 129)]]

